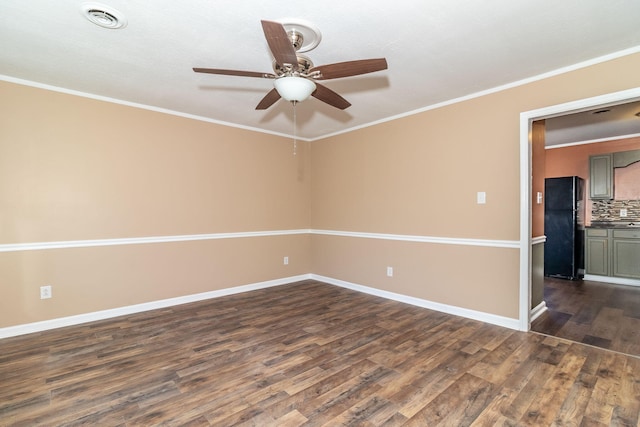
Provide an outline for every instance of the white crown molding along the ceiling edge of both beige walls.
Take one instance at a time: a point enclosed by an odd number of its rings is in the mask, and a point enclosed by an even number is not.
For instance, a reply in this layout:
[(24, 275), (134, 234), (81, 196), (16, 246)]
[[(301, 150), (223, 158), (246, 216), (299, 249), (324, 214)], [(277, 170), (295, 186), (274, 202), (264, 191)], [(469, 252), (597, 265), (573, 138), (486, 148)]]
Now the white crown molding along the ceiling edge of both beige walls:
[[(418, 108), (416, 110), (412, 110), (412, 111), (408, 111), (406, 113), (401, 113), (401, 114), (397, 114), (395, 116), (391, 116), (391, 117), (386, 117), (384, 119), (380, 119), (380, 120), (376, 120), (373, 122), (369, 122), (369, 123), (364, 123), (362, 125), (359, 126), (354, 126), (348, 129), (343, 129), (337, 132), (333, 132), (333, 133), (328, 133), (325, 135), (320, 135), (320, 136), (316, 136), (316, 137), (312, 137), (312, 138), (305, 138), (305, 137), (301, 137), (301, 136), (297, 136), (297, 138), (299, 140), (302, 141), (309, 141), (309, 142), (313, 142), (313, 141), (317, 141), (320, 139), (325, 139), (325, 138), (330, 138), (333, 136), (337, 136), (337, 135), (342, 135), (345, 133), (349, 133), (349, 132), (353, 132), (355, 130), (359, 130), (359, 129), (364, 129), (364, 128), (368, 128), (371, 126), (375, 126), (381, 123), (386, 123), (386, 122), (390, 122), (393, 120), (397, 120), (403, 117), (408, 117), (408, 116), (413, 116), (416, 114), (420, 114), (423, 113), (425, 111), (429, 111), (429, 110), (435, 110), (436, 108), (441, 108), (444, 106), (448, 106), (448, 105), (452, 105), (452, 104), (457, 104), (460, 102), (464, 102), (464, 101), (468, 101), (470, 99), (475, 99), (475, 98), (480, 98), (482, 96), (486, 96), (486, 95), (490, 95), (492, 93), (497, 93), (497, 92), (502, 92), (504, 90), (508, 90), (508, 89), (512, 89), (515, 87), (519, 87), (519, 86), (524, 86), (526, 84), (529, 83), (533, 83), (533, 82), (537, 82), (540, 80), (544, 80), (547, 79), (549, 77), (554, 77), (560, 74), (565, 74), (565, 73), (569, 73), (571, 71), (575, 71), (575, 70), (579, 70), (582, 68), (586, 68), (586, 67), (590, 67), (592, 65), (596, 65), (596, 64), (600, 64), (602, 62), (607, 62), (607, 61), (611, 61), (613, 59), (617, 59), (617, 58), (622, 58), (625, 56), (629, 56), (629, 55), (633, 55), (640, 52), (640, 46), (634, 46), (628, 49), (624, 49), (624, 50), (620, 50), (618, 52), (613, 52), (607, 55), (603, 55), (603, 56), (599, 56), (597, 58), (592, 58), (589, 59), (587, 61), (583, 61), (583, 62), (579, 62), (577, 64), (572, 64), (566, 67), (562, 67), (562, 68), (558, 68), (546, 73), (542, 73), (542, 74), (538, 74), (537, 76), (533, 76), (533, 77), (529, 77), (526, 79), (522, 79), (522, 80), (518, 80), (512, 83), (508, 83), (505, 85), (501, 85), (501, 86), (496, 86), (494, 88), (490, 88), (487, 90), (483, 90), (480, 92), (475, 92), (469, 95), (465, 95), (465, 96), (461, 96), (458, 98), (454, 98), (454, 99), (450, 99), (444, 102), (439, 102), (436, 104), (431, 104), (428, 105), (426, 107), (422, 107), (422, 108)], [(185, 117), (188, 119), (193, 119), (193, 120), (199, 120), (199, 121), (203, 121), (203, 122), (208, 122), (208, 123), (215, 123), (215, 124), (219, 124), (222, 126), (229, 126), (229, 127), (233, 127), (233, 128), (239, 128), (239, 129), (245, 129), (245, 130), (250, 130), (250, 131), (254, 131), (254, 132), (258, 132), (258, 133), (266, 133), (266, 134), (270, 134), (270, 135), (276, 135), (276, 136), (282, 136), (285, 138), (292, 138), (293, 135), (289, 135), (289, 134), (284, 134), (284, 133), (280, 133), (280, 132), (273, 132), (273, 131), (268, 131), (262, 128), (254, 128), (251, 126), (244, 126), (244, 125), (239, 125), (237, 123), (231, 123), (231, 122), (225, 122), (222, 120), (214, 120), (214, 119), (210, 119), (208, 117), (202, 117), (202, 116), (197, 116), (197, 115), (193, 115), (193, 114), (187, 114), (187, 113), (181, 113), (178, 111), (174, 111), (174, 110), (168, 110), (165, 108), (159, 108), (159, 107), (154, 107), (151, 105), (144, 105), (144, 104), (138, 104), (135, 102), (129, 102), (129, 101), (123, 101), (120, 99), (115, 99), (115, 98), (109, 98), (106, 96), (101, 96), (101, 95), (94, 95), (91, 93), (86, 93), (86, 92), (80, 92), (80, 91), (76, 91), (76, 90), (71, 90), (71, 89), (66, 89), (66, 88), (61, 88), (58, 86), (52, 86), (52, 85), (47, 85), (44, 83), (38, 83), (38, 82), (33, 82), (30, 80), (23, 80), (23, 79), (18, 79), (15, 77), (11, 77), (11, 76), (7, 76), (7, 75), (0, 75), (0, 80), (4, 80), (10, 83), (16, 83), (16, 84), (21, 84), (24, 86), (31, 86), (31, 87), (36, 87), (36, 88), (40, 88), (40, 89), (46, 89), (46, 90), (51, 90), (54, 92), (60, 92), (60, 93), (66, 93), (69, 95), (75, 95), (75, 96), (80, 96), (80, 97), (84, 97), (84, 98), (90, 98), (90, 99), (96, 99), (99, 101), (105, 101), (105, 102), (112, 102), (114, 104), (121, 104), (121, 105), (126, 105), (129, 107), (135, 107), (135, 108), (141, 108), (143, 110), (150, 110), (150, 111), (155, 111), (158, 113), (163, 113), (163, 114), (170, 114), (170, 115), (174, 115), (174, 116), (178, 116), (178, 117)]]

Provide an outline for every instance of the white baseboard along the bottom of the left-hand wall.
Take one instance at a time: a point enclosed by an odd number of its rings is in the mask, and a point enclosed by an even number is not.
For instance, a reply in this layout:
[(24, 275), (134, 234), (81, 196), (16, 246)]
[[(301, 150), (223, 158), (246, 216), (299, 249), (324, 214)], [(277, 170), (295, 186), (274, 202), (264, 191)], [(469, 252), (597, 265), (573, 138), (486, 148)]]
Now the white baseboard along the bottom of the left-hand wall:
[(65, 326), (79, 325), (82, 323), (95, 322), (97, 320), (111, 319), (118, 316), (126, 316), (135, 313), (142, 313), (158, 308), (166, 308), (190, 302), (202, 301), (212, 298), (219, 298), (226, 295), (239, 294), (242, 292), (254, 291), (257, 289), (270, 288), (274, 286), (285, 285), (288, 283), (298, 282), (300, 280), (310, 279), (310, 274), (302, 274), (299, 276), (285, 277), (282, 279), (268, 280), (266, 282), (258, 282), (249, 285), (236, 286), (233, 288), (220, 289), (217, 291), (203, 292), (199, 294), (185, 295), (176, 298), (169, 298), (158, 301), (151, 301), (142, 304), (118, 307), (109, 310), (94, 311), (92, 313), (78, 314), (75, 316), (60, 317), (57, 319), (44, 320), (42, 322), (27, 323), (24, 325), (9, 326), (0, 328), (0, 338), (14, 337), (18, 335), (31, 334), (34, 332), (42, 332), (50, 329), (62, 328)]

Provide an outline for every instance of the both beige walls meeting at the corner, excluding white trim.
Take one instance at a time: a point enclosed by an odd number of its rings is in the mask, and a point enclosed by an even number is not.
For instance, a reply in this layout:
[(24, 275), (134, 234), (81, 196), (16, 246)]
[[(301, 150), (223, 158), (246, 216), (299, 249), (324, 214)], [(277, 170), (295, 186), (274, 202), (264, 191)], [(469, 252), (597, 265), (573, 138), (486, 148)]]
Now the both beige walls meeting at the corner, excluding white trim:
[[(301, 228), (517, 241), (520, 112), (639, 86), (637, 69), (640, 55), (613, 60), (295, 157), (287, 138), (0, 83), (0, 243)], [(518, 259), (304, 234), (2, 252), (0, 327), (310, 272), (517, 318)]]

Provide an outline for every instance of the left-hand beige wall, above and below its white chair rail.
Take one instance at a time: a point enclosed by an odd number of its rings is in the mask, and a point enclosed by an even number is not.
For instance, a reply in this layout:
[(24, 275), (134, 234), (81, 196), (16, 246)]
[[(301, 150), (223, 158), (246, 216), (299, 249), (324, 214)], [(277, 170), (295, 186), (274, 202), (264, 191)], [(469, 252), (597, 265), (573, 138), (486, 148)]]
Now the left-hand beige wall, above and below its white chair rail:
[[(288, 138), (5, 82), (0, 93), (0, 244), (309, 228), (308, 143), (293, 156)], [(0, 327), (306, 274), (309, 245), (0, 252)]]

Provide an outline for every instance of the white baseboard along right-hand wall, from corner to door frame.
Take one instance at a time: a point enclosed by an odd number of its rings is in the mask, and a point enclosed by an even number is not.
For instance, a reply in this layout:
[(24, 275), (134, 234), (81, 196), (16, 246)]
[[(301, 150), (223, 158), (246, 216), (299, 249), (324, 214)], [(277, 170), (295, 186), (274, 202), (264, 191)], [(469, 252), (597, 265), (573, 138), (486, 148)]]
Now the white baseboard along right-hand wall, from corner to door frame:
[(369, 295), (375, 295), (378, 297), (390, 299), (393, 301), (403, 302), (405, 304), (410, 304), (417, 307), (428, 308), (430, 310), (440, 311), (442, 313), (452, 314), (454, 316), (461, 316), (467, 319), (473, 319), (481, 322), (491, 323), (492, 325), (503, 326), (509, 329), (518, 329), (518, 326), (519, 326), (518, 319), (497, 316), (495, 314), (484, 313), (482, 311), (469, 310), (466, 308), (456, 307), (453, 305), (441, 304), (438, 302), (428, 301), (421, 298), (410, 297), (407, 295), (397, 294), (394, 292), (383, 291), (380, 289), (358, 285), (351, 282), (345, 282), (344, 280), (338, 280), (331, 277), (320, 276), (317, 274), (311, 274), (311, 278), (313, 280), (318, 280), (321, 282), (329, 283), (331, 285), (351, 289), (357, 292), (362, 292)]

